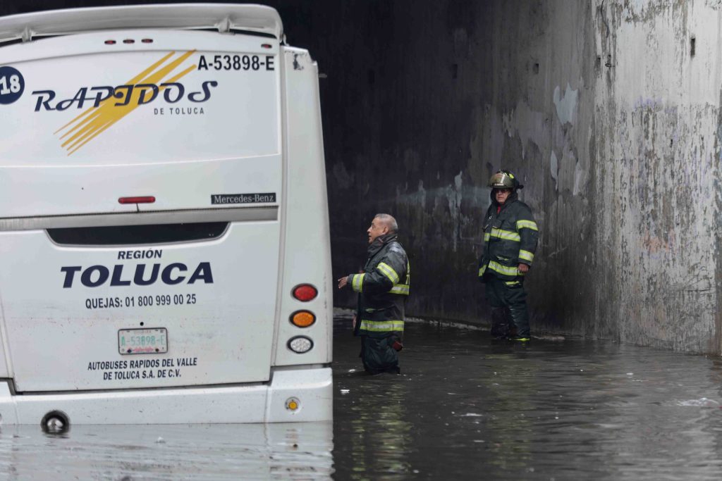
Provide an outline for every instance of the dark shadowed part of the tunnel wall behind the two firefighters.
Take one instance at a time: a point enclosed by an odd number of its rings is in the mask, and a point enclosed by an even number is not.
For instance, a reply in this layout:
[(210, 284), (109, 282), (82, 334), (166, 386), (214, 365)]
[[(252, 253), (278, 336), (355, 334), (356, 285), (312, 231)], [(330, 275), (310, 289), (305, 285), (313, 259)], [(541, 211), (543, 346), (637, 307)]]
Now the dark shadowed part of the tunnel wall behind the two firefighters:
[[(337, 21), (309, 25), (325, 42), (336, 42), (318, 45), (315, 53), (328, 74), (321, 93), (334, 273), (358, 268), (370, 219), (392, 213), (412, 262), (409, 314), (487, 322), (477, 281), (481, 220), (489, 205), (487, 180), (506, 167), (526, 184), (521, 198), (541, 226), (528, 282), (532, 325), (614, 337), (611, 326), (587, 331), (578, 322), (573, 306), (588, 308), (592, 287), (561, 275), (583, 267), (580, 257), (560, 252), (581, 252), (579, 233), (589, 228), (583, 212), (590, 208), (584, 191), (591, 177), (592, 109), (573, 125), (558, 115), (554, 94), (562, 110), (575, 110), (583, 76), (593, 79), (593, 43), (580, 35), (589, 28), (591, 6), (328, 5)], [(554, 172), (565, 176), (561, 188), (562, 180), (550, 175), (551, 151), (559, 164), (572, 164)], [(581, 167), (574, 167), (580, 156)], [(581, 180), (575, 180), (577, 170), (585, 174)], [(350, 294), (336, 298), (340, 305), (353, 302)]]

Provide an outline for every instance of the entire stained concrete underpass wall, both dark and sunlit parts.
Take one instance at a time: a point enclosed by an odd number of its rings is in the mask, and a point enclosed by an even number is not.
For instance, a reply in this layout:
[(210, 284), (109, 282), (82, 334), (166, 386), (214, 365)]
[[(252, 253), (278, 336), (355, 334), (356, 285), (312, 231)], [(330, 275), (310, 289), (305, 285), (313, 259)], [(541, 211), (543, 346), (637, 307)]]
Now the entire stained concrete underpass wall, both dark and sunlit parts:
[(721, 1), (266, 3), (326, 75), (337, 276), (392, 213), (409, 314), (487, 323), (485, 185), (506, 167), (541, 229), (533, 330), (720, 352)]

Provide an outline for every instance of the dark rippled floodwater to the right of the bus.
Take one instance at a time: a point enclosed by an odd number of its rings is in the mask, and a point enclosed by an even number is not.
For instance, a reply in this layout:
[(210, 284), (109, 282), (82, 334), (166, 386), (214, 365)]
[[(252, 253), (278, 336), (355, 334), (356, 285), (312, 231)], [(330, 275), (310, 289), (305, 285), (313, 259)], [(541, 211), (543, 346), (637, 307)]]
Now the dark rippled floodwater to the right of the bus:
[(718, 359), (411, 324), (403, 374), (365, 376), (347, 325), (335, 325), (338, 480), (718, 479)]

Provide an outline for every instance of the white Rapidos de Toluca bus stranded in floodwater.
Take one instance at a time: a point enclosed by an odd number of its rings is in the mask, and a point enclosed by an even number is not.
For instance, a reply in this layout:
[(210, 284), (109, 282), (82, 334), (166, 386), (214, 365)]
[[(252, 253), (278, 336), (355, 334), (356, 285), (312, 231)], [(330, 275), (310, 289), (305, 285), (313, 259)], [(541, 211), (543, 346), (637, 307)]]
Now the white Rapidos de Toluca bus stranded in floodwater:
[(3, 423), (331, 419), (319, 105), (266, 6), (0, 18)]

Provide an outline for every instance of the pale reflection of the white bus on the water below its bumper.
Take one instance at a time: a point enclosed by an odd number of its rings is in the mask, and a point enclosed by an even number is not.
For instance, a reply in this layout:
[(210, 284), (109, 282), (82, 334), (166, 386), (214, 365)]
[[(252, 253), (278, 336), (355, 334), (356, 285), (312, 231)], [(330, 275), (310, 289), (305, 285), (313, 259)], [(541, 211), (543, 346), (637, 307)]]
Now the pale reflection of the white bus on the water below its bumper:
[(331, 423), (74, 425), (63, 434), (4, 426), (9, 480), (325, 480)]

